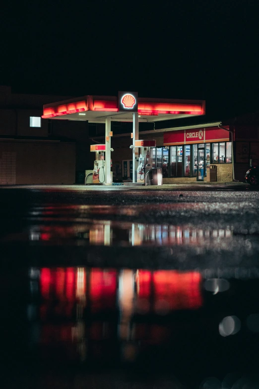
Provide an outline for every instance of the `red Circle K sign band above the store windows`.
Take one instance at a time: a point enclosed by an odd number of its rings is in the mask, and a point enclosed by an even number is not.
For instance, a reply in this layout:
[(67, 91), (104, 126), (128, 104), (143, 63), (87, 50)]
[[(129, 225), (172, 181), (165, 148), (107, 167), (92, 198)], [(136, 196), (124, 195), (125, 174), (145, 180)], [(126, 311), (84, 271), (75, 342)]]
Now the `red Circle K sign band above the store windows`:
[(164, 146), (206, 142), (229, 142), (229, 131), (211, 127), (164, 133)]

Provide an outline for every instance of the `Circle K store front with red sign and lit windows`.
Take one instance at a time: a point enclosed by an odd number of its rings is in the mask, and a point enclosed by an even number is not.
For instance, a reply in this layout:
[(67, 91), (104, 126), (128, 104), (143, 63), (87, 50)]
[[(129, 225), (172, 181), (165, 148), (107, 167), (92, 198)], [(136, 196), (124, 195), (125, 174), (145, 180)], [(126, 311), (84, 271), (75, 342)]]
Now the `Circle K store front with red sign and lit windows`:
[[(153, 149), (153, 167), (161, 167), (163, 179), (192, 178), (206, 181), (206, 167), (217, 164), (223, 181), (232, 174), (230, 133), (217, 127), (168, 131), (164, 146)], [(165, 182), (165, 181), (164, 181)]]

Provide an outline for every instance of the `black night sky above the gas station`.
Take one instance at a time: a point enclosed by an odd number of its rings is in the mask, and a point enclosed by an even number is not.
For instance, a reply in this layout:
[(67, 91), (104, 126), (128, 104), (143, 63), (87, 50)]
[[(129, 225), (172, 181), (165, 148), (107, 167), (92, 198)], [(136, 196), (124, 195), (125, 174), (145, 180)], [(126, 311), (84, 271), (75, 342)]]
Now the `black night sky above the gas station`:
[(258, 0), (26, 1), (1, 8), (0, 84), (16, 92), (259, 107)]

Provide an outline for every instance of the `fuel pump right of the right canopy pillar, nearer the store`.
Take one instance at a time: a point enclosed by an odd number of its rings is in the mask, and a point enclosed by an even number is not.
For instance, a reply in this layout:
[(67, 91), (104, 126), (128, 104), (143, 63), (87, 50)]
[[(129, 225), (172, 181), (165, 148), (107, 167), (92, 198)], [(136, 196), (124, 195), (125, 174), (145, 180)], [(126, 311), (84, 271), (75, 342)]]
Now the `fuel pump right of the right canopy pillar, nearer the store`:
[(156, 141), (135, 141), (135, 147), (138, 148), (139, 156), (137, 158), (137, 182), (144, 183), (145, 174), (152, 168), (153, 164), (153, 147), (156, 146)]

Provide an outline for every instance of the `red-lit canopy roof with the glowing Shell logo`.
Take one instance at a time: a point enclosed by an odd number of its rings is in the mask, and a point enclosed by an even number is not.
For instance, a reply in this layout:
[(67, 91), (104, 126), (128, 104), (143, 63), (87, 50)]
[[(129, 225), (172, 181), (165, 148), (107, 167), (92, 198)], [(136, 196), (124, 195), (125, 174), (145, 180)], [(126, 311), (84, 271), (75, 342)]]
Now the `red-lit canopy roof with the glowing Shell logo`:
[(132, 122), (133, 112), (138, 113), (139, 122), (179, 119), (204, 115), (205, 101), (141, 98), (134, 92), (119, 92), (118, 97), (87, 95), (44, 105), (42, 118)]

